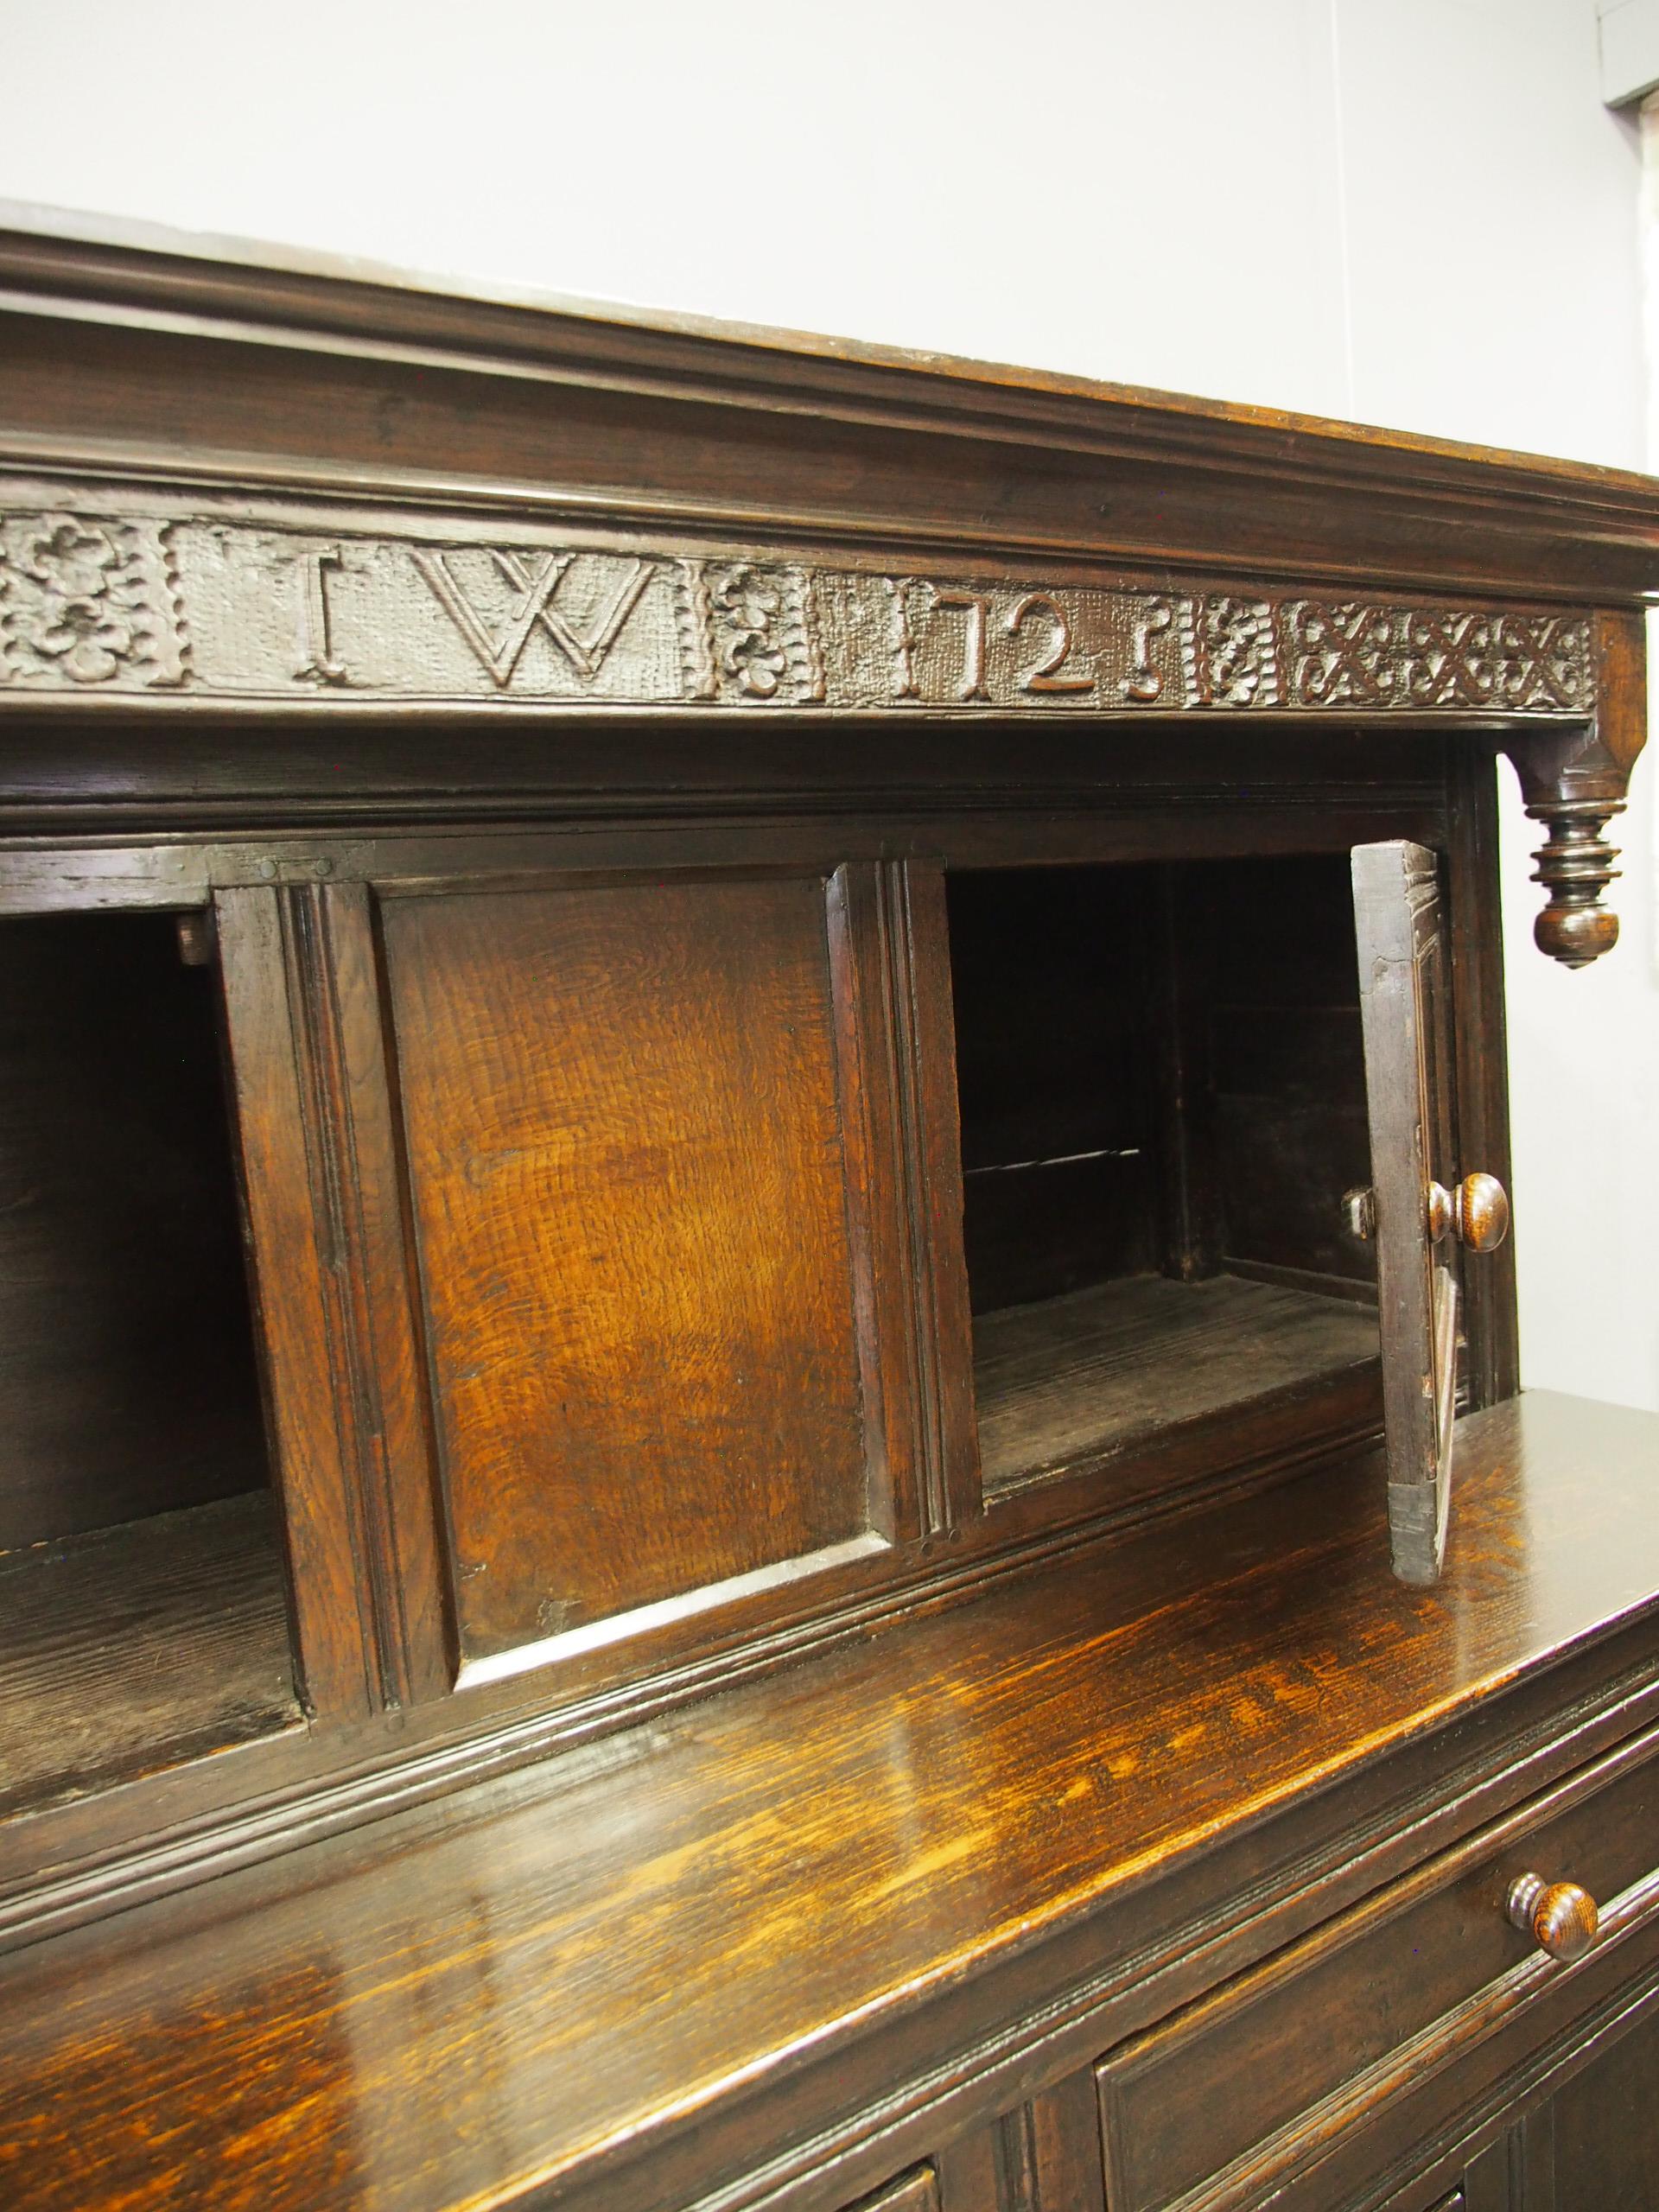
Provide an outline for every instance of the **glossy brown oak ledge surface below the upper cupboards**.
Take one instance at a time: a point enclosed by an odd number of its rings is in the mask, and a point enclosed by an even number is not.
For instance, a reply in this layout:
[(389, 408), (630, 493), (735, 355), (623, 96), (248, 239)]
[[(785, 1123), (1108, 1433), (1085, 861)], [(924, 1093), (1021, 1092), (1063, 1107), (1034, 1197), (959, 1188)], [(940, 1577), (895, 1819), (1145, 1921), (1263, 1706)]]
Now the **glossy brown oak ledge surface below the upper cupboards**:
[[(139, 2212), (246, 2174), (268, 2212), (427, 2205), (586, 2159), (584, 2190), (626, 2170), (630, 2201), (690, 2201), (717, 2179), (697, 2157), (734, 2154), (710, 2099), (748, 2068), (781, 2084), (812, 2048), (852, 2081), (887, 2028), (889, 2081), (900, 2051), (931, 2066), (927, 2006), (964, 1978), (1113, 1902), (1150, 1931), (1223, 1832), (1500, 1730), (1586, 1639), (1652, 1652), (1657, 1449), (1648, 1416), (1531, 1394), (1464, 1425), (1436, 1590), (1378, 1573), (1365, 1458), (732, 1690), (586, 1774), (38, 1947), (0, 2059), (11, 2203)], [(272, 2137), (299, 2011), (312, 2059)], [(803, 2126), (785, 2101), (776, 2128)], [(765, 2157), (765, 2128), (745, 2143)]]

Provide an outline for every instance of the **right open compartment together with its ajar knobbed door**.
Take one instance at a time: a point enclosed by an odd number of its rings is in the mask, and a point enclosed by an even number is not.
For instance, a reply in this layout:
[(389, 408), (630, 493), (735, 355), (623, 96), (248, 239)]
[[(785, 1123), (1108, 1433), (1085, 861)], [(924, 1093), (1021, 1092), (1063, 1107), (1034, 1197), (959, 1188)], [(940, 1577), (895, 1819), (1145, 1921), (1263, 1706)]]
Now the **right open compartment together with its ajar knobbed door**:
[(962, 869), (947, 891), (989, 1504), (1133, 1506), (1385, 1431), (1402, 1579), (1447, 1544), (1458, 1179), (1440, 863)]

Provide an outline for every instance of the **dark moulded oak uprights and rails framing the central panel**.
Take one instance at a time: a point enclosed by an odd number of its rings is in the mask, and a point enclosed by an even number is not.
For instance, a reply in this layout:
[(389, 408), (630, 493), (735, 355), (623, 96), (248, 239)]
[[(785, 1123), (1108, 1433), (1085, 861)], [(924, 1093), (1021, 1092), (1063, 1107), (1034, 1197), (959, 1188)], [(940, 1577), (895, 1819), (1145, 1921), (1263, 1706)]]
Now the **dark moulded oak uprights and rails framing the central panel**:
[[(1252, 836), (1259, 830), (1261, 825), (1250, 825)], [(1296, 834), (1329, 838), (1340, 832), (1340, 816), (1332, 823), (1321, 814), (1316, 832), (1303, 825)], [(960, 836), (960, 827), (953, 834)], [(1022, 821), (1004, 838), (1004, 849), (1018, 849), (1029, 834), (1031, 825)], [(1267, 834), (1272, 841), (1292, 832), (1270, 823)], [(1091, 836), (1091, 823), (1079, 818), (1066, 830), (1066, 838), (1075, 843), (1055, 849), (1088, 854)], [(1121, 849), (1124, 832), (1110, 830), (1108, 836)], [(681, 825), (672, 834), (672, 856), (708, 863), (714, 852), (726, 849), (743, 860), (783, 847), (805, 865), (816, 852), (827, 867), (825, 852), (834, 854), (847, 841), (874, 838), (869, 827), (847, 832), (838, 823), (721, 823), (706, 832)], [(157, 1878), (153, 1867), (168, 1869), (166, 1880), (184, 1880), (192, 1865), (208, 1865), (223, 1851), (241, 1854), (250, 1847), (248, 1838), (257, 1838), (257, 1849), (263, 1851), (281, 1847), (285, 1816), (268, 1807), (274, 1798), (310, 1820), (312, 1814), (294, 1798), (305, 1778), (321, 1792), (316, 1818), (334, 1823), (363, 1816), (405, 1787), (427, 1792), (469, 1767), (495, 1767), (502, 1756), (524, 1761), (538, 1745), (595, 1723), (617, 1725), (628, 1712), (684, 1699), (734, 1668), (776, 1663), (841, 1632), (849, 1621), (891, 1617), (922, 1590), (962, 1595), (987, 1573), (1018, 1564), (1029, 1546), (1048, 1542), (1051, 1528), (1088, 1524), (1102, 1513), (1121, 1520), (1157, 1511), (1170, 1491), (1212, 1480), (1217, 1471), (1228, 1480), (1239, 1471), (1252, 1478), (1272, 1473), (1285, 1462), (1305, 1460), (1327, 1440), (1363, 1436), (1376, 1427), (1374, 1380), (1354, 1369), (1334, 1391), (1318, 1387), (1310, 1396), (1292, 1389), (1272, 1400), (1252, 1400), (1245, 1409), (1234, 1409), (1221, 1431), (1214, 1425), (1206, 1429), (1203, 1422), (1159, 1431), (1155, 1442), (1133, 1453), (1133, 1464), (1113, 1462), (1108, 1480), (1095, 1480), (1084, 1469), (1048, 1484), (1042, 1498), (1004, 1491), (991, 1520), (978, 1515), (964, 1316), (949, 1323), (947, 1314), (951, 1298), (960, 1298), (960, 1283), (951, 1287), (951, 1279), (960, 1274), (960, 1254), (953, 1252), (953, 1170), (942, 1141), (949, 1137), (953, 1082), (938, 958), (938, 872), (933, 863), (911, 860), (898, 872), (887, 863), (865, 876), (860, 865), (849, 863), (841, 874), (852, 938), (863, 947), (854, 964), (865, 982), (852, 1031), (858, 1033), (856, 1055), (869, 1077), (863, 1082), (867, 1150), (872, 1159), (880, 1159), (891, 1157), (898, 1146), (907, 1157), (909, 1181), (905, 1194), (894, 1188), (891, 1175), (860, 1170), (872, 1254), (889, 1250), (894, 1261), (872, 1267), (869, 1310), (883, 1349), (878, 1358), (865, 1360), (860, 1387), (869, 1411), (876, 1398), (872, 1383), (878, 1385), (887, 1464), (902, 1469), (909, 1453), (911, 1467), (922, 1469), (909, 1475), (918, 1506), (927, 1493), (922, 1526), (936, 1535), (949, 1533), (949, 1544), (936, 1544), (933, 1537), (920, 1546), (900, 1544), (823, 1575), (779, 1579), (708, 1613), (677, 1610), (672, 1619), (648, 1628), (635, 1624), (637, 1635), (626, 1646), (580, 1655), (568, 1648), (542, 1650), (538, 1657), (546, 1663), (522, 1683), (478, 1683), (473, 1674), (467, 1697), (449, 1712), (440, 1710), (453, 1679), (453, 1659), (436, 1564), (420, 1564), (422, 1517), (431, 1531), (425, 1542), (434, 1562), (438, 1546), (422, 1442), (422, 1394), (416, 1387), (422, 1363), (418, 1345), (405, 1334), (409, 1321), (400, 1318), (409, 1303), (409, 1245), (400, 1221), (396, 1104), (387, 1091), (372, 891), (365, 876), (376, 883), (385, 878), (389, 898), (394, 889), (434, 898), (442, 885), (471, 880), (549, 883), (551, 869), (562, 860), (637, 865), (653, 847), (659, 858), (668, 858), (664, 834), (639, 825), (608, 834), (513, 827), (495, 834), (427, 832), (354, 843), (330, 838), (321, 845), (265, 841), (188, 847), (199, 867), (188, 878), (192, 887), (204, 878), (226, 885), (219, 894), (219, 936), (232, 991), (232, 1044), (241, 1042), (248, 1082), (241, 1119), (248, 1159), (257, 1170), (257, 1254), (330, 1256), (314, 1274), (307, 1272), (312, 1261), (265, 1267), (265, 1343), (279, 1440), (285, 1433), (283, 1413), (290, 1420), (305, 1413), (288, 1431), (303, 1458), (288, 1462), (285, 1498), (290, 1546), (301, 1566), (301, 1650), (310, 1639), (310, 1694), (327, 1725), (301, 1743), (257, 1747), (237, 1763), (234, 1776), (228, 1770), (223, 1778), (173, 1776), (166, 1792), (153, 1798), (153, 1820), (164, 1827), (164, 1847), (155, 1860), (146, 1854), (135, 1867), (135, 1878), (144, 1885)], [(137, 883), (146, 898), (177, 896), (170, 852), (153, 858), (148, 876), (124, 878), (111, 865), (108, 847), (64, 860), (62, 867), (60, 889), (75, 896), (82, 885), (104, 885), (106, 896), (119, 898), (128, 883)], [(261, 876), (265, 867), (276, 869), (274, 885)], [(827, 867), (827, 874), (836, 869)], [(889, 874), (889, 889), (878, 891), (876, 883)], [(18, 894), (40, 896), (46, 883), (38, 860), (31, 860)], [(900, 883), (907, 885), (905, 891)], [(883, 902), (889, 916), (885, 922), (878, 918)], [(900, 927), (905, 909), (909, 922)], [(248, 931), (239, 920), (243, 914), (265, 920)], [(887, 982), (876, 987), (880, 978)], [(883, 1106), (887, 1086), (880, 1071), (889, 1060), (898, 1075)], [(911, 1068), (909, 1077), (902, 1077), (905, 1066)], [(902, 1095), (911, 1104), (900, 1113), (894, 1099)], [(911, 1137), (902, 1137), (907, 1117), (918, 1124), (914, 1157)], [(305, 1124), (310, 1135), (299, 1141)], [(860, 1206), (854, 1206), (854, 1223), (858, 1212)], [(925, 1221), (925, 1234), (918, 1221)], [(891, 1250), (905, 1237), (914, 1248), (909, 1287), (907, 1270)], [(927, 1294), (925, 1283), (931, 1283)], [(931, 1321), (922, 1312), (929, 1303)], [(907, 1312), (911, 1318), (905, 1318)], [(951, 1327), (962, 1329), (956, 1349)], [(933, 1349), (925, 1360), (922, 1347), (929, 1340)], [(931, 1442), (929, 1422), (938, 1425)], [(896, 1482), (894, 1491), (902, 1495), (905, 1484)], [(338, 1650), (341, 1674), (325, 1690), (330, 1677), (316, 1652), (327, 1655), (330, 1646)], [(343, 1725), (356, 1681), (376, 1686), (365, 1705), (369, 1712), (376, 1705), (396, 1712), (396, 1732), (352, 1732)], [(403, 1703), (411, 1697), (414, 1703)], [(396, 1772), (398, 1752), (409, 1756), (411, 1767), (418, 1763), (405, 1778)], [(42, 1907), (53, 1918), (62, 1911), (80, 1916), (106, 1909), (124, 1889), (119, 1854), (135, 1843), (144, 1845), (146, 1834), (144, 1805), (124, 1796), (102, 1812), (66, 1807), (62, 1843), (53, 1845), (51, 1858), (27, 1856), (0, 1836), (4, 1924), (20, 1927), (31, 1882), (40, 1887)], [(111, 1851), (115, 1863), (106, 1860)], [(77, 1871), (82, 1858), (91, 1860), (86, 1874)]]

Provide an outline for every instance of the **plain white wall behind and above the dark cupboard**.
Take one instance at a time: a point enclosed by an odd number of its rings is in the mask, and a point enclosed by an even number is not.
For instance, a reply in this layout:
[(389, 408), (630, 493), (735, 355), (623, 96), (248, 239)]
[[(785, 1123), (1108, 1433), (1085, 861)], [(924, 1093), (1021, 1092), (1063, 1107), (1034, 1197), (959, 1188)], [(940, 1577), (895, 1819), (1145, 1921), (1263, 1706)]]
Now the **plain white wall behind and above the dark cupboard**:
[[(0, 0), (0, 197), (1644, 465), (1597, 0)], [(1504, 905), (1531, 1383), (1659, 1407), (1626, 942)]]

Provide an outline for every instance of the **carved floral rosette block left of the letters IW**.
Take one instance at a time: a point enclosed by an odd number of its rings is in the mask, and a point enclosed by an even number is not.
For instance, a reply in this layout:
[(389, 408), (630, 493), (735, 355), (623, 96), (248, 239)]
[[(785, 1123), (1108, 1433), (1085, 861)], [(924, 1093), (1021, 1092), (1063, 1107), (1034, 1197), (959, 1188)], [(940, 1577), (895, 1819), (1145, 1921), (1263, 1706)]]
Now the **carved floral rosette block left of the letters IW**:
[(33, 684), (179, 684), (166, 555), (144, 524), (18, 515), (0, 540), (4, 675)]

